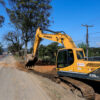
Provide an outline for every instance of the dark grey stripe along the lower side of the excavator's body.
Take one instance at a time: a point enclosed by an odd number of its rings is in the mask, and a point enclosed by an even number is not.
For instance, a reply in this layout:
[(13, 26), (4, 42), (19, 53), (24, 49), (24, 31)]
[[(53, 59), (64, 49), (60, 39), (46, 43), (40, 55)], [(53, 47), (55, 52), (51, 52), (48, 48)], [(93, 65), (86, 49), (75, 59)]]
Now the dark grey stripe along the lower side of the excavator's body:
[(57, 73), (59, 76), (100, 81), (100, 75), (97, 76), (94, 73), (84, 74), (84, 73), (69, 72), (69, 71), (58, 71)]

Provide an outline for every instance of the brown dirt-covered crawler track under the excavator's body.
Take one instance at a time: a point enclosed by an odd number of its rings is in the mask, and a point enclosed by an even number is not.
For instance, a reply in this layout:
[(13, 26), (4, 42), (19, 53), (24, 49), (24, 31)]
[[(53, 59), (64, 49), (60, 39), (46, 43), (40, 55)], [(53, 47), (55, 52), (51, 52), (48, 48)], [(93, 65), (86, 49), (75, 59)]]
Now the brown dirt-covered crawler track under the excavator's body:
[(95, 99), (95, 92), (91, 86), (81, 81), (75, 80), (73, 78), (69, 78), (69, 77), (59, 77), (59, 78), (62, 81), (65, 81), (66, 83), (71, 84), (73, 87), (78, 89), (87, 100)]

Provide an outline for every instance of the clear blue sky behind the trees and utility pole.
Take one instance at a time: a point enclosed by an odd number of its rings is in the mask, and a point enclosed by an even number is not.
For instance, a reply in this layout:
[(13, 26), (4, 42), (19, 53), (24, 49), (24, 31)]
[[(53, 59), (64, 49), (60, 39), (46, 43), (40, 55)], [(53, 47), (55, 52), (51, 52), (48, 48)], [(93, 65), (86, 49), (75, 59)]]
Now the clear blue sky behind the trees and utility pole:
[[(53, 23), (49, 29), (65, 31), (77, 45), (85, 43), (86, 28), (81, 24), (94, 25), (89, 28), (89, 44), (92, 47), (100, 47), (100, 0), (52, 0), (51, 5), (50, 19)], [(4, 15), (6, 19), (4, 26), (0, 28), (0, 41), (2, 41), (2, 36), (12, 30), (12, 26), (8, 24), (10, 20), (2, 5), (0, 5), (0, 15)], [(44, 40), (42, 43), (47, 45), (51, 42)]]

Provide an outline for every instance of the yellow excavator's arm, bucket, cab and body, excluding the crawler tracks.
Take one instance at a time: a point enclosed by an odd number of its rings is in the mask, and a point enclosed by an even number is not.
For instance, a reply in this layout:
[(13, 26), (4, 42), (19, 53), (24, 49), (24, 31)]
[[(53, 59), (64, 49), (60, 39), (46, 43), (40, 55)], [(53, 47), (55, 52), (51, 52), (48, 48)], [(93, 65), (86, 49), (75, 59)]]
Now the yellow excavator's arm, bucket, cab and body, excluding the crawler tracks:
[(39, 27), (36, 30), (35, 42), (33, 45), (33, 60), (30, 60), (26, 66), (31, 67), (37, 61), (37, 51), (41, 39), (48, 39), (61, 43), (64, 48), (58, 50), (56, 65), (59, 76), (68, 76), (74, 78), (100, 81), (100, 61), (88, 61), (85, 59), (85, 53), (82, 48), (77, 48), (72, 38), (62, 32), (55, 34), (42, 33)]

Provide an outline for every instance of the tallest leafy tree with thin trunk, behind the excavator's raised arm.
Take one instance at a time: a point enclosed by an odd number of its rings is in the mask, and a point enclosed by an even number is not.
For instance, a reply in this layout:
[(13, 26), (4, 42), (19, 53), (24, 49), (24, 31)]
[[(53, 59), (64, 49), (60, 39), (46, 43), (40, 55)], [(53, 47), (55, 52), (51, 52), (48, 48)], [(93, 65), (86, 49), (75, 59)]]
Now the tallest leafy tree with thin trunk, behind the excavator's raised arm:
[(27, 44), (33, 41), (37, 27), (46, 28), (49, 26), (51, 0), (10, 0), (12, 8), (8, 9), (11, 22), (22, 32), (22, 40)]

